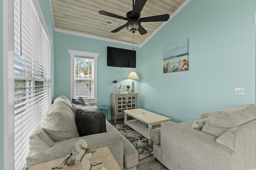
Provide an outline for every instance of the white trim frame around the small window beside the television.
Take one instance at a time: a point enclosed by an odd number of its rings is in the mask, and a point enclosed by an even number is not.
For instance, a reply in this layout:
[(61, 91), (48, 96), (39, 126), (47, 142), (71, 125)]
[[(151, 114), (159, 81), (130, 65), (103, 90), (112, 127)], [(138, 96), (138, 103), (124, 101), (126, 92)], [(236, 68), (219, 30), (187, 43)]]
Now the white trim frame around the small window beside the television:
[(86, 100), (86, 103), (95, 104), (97, 103), (97, 59), (100, 53), (91, 53), (86, 51), (76, 51), (76, 50), (69, 50), (68, 53), (70, 54), (70, 100), (74, 98), (74, 58), (75, 56), (82, 56), (82, 57), (93, 57), (94, 58), (94, 100)]

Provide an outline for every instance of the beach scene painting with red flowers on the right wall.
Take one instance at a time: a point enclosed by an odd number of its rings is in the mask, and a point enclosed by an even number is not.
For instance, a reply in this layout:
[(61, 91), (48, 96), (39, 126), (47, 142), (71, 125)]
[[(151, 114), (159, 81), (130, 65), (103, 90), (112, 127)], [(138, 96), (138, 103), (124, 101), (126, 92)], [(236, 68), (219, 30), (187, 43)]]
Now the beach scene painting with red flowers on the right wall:
[(164, 47), (164, 73), (188, 70), (188, 38)]

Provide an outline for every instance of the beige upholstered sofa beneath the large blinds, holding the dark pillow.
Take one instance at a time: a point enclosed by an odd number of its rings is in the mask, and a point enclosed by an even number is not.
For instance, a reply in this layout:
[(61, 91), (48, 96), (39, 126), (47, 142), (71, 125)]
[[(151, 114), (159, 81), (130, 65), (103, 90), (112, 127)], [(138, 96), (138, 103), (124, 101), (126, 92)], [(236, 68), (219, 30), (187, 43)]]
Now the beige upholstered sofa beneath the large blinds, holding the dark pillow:
[(121, 169), (136, 170), (138, 152), (135, 147), (108, 121), (106, 129), (105, 133), (80, 137), (70, 100), (58, 96), (29, 137), (26, 169), (34, 164), (64, 157), (71, 150), (76, 151), (76, 141), (84, 139), (90, 149), (107, 146)]

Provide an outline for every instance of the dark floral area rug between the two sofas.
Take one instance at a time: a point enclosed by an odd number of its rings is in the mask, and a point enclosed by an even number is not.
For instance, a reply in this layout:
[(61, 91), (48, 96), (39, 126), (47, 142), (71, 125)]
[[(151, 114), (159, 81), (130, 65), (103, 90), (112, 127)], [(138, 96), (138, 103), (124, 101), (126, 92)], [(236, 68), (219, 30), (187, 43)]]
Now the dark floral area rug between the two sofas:
[(116, 127), (116, 129), (136, 148), (139, 160), (153, 155), (153, 145), (150, 145), (148, 143), (148, 139), (140, 135), (140, 133), (134, 131), (129, 126), (125, 126), (124, 124), (117, 124), (114, 125), (114, 127)]

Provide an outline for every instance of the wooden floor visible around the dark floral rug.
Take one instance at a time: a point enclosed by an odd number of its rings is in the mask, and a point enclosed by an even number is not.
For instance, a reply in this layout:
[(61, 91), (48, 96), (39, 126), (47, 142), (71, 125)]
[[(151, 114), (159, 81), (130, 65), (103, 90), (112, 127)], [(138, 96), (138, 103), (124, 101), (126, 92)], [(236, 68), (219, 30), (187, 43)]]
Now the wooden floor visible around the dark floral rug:
[[(128, 117), (127, 119), (133, 119), (133, 117)], [(123, 123), (124, 119), (116, 119), (116, 123), (114, 123), (114, 120), (111, 120), (112, 125)], [(154, 156), (150, 156), (139, 161), (137, 164), (137, 170), (168, 170), (168, 168), (166, 168), (159, 161), (155, 160)]]

